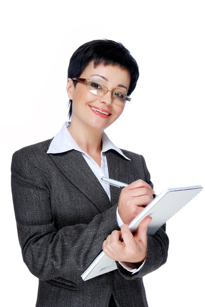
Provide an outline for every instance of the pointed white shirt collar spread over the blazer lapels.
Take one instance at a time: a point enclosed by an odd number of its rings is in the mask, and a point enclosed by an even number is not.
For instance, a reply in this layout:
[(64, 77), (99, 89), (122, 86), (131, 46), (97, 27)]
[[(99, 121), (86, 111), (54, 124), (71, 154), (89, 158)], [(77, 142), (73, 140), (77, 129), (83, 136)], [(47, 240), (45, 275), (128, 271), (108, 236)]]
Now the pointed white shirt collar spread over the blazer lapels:
[[(76, 150), (78, 152), (84, 153), (78, 144), (74, 141), (72, 136), (68, 131), (70, 122), (65, 122), (61, 130), (52, 139), (47, 153), (64, 153), (69, 150)], [(121, 154), (125, 159), (130, 160), (118, 147), (116, 147), (113, 142), (108, 138), (108, 136), (103, 132), (102, 135), (102, 153), (113, 149), (117, 153)]]

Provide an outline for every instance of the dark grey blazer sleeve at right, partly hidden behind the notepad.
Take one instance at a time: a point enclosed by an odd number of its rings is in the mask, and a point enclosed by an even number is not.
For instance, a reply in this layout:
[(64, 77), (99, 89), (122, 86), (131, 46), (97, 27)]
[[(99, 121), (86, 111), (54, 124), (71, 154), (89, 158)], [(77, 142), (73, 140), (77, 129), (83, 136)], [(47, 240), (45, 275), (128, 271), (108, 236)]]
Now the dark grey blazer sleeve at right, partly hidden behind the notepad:
[[(150, 173), (147, 169), (143, 156), (141, 156), (141, 160), (144, 169), (145, 180), (153, 188), (153, 183), (151, 182), (150, 179)], [(118, 262), (116, 262), (119, 273), (125, 279), (135, 280), (141, 278), (147, 275), (148, 273), (157, 270), (161, 265), (163, 265), (166, 262), (168, 256), (169, 238), (165, 230), (166, 230), (166, 225), (164, 224), (153, 235), (148, 235), (146, 258), (142, 268), (137, 273), (132, 275), (132, 273), (128, 272)]]

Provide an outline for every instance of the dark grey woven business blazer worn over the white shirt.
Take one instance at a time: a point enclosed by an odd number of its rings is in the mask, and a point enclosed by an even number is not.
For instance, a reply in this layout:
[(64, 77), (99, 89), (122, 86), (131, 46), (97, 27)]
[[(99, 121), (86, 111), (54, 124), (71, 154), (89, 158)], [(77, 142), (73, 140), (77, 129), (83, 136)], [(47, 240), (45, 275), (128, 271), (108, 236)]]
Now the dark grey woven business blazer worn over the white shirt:
[[(145, 307), (142, 277), (164, 264), (165, 227), (148, 236), (143, 268), (131, 275), (118, 269), (89, 281), (81, 274), (102, 250), (104, 239), (118, 230), (120, 189), (111, 186), (111, 202), (81, 153), (47, 154), (51, 140), (13, 155), (12, 194), (23, 260), (39, 278), (36, 307), (107, 307), (111, 293), (118, 307)], [(131, 161), (106, 153), (110, 178), (152, 185), (141, 155), (123, 151)]]

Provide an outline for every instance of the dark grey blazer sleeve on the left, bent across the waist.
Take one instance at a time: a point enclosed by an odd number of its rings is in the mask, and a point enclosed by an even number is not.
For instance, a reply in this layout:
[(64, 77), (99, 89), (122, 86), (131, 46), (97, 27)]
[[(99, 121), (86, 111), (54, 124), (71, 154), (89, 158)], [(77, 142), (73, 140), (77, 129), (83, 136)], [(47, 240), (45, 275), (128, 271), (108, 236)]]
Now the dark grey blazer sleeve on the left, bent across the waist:
[(12, 196), (23, 260), (41, 280), (79, 278), (101, 252), (106, 237), (119, 229), (116, 205), (96, 214), (89, 224), (57, 230), (50, 204), (49, 174), (37, 168), (32, 160), (29, 152), (20, 150), (13, 154), (11, 165)]

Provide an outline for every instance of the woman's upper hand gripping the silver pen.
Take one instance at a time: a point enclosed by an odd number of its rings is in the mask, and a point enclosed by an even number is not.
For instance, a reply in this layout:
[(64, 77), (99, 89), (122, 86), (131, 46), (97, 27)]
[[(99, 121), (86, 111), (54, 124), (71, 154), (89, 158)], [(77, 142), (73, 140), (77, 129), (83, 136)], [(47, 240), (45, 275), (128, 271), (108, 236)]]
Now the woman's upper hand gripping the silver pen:
[(129, 225), (143, 210), (141, 205), (148, 205), (153, 200), (153, 194), (151, 186), (141, 179), (123, 188), (118, 202), (118, 213), (123, 223)]

